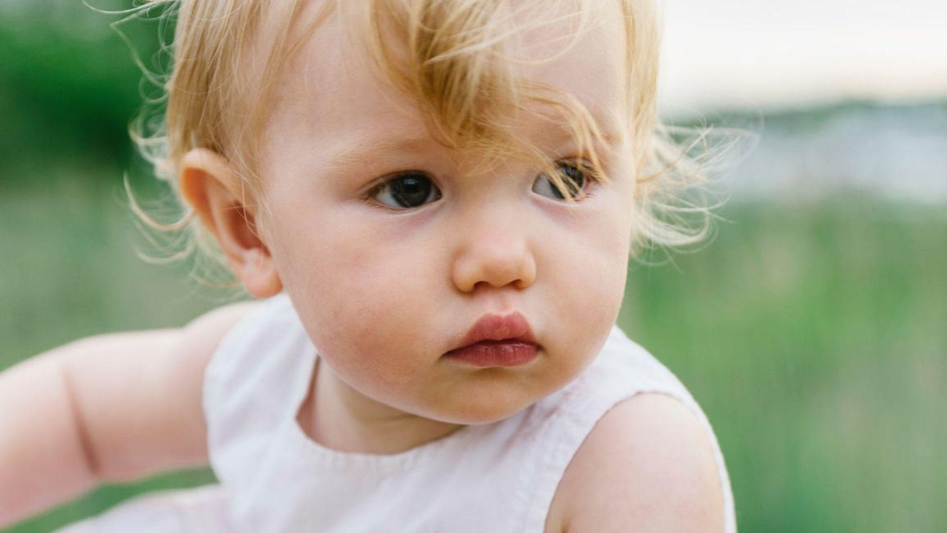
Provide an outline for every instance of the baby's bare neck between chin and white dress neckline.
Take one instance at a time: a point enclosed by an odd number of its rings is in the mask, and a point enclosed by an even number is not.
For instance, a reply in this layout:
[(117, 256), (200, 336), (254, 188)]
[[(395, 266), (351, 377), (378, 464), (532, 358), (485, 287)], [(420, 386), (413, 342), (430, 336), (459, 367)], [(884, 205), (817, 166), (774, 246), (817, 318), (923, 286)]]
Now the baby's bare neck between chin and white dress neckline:
[(322, 358), (316, 358), (313, 382), (296, 420), (326, 448), (377, 454), (410, 450), (462, 427), (375, 401), (335, 376)]

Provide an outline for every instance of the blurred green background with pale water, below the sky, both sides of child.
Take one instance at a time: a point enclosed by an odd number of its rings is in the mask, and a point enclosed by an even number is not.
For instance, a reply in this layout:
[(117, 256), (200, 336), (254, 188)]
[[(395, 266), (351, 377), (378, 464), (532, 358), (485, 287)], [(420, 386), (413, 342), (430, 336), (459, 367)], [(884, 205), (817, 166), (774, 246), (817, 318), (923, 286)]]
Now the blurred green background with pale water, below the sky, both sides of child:
[[(156, 250), (123, 173), (146, 204), (168, 192), (127, 135), (154, 92), (108, 27), (117, 18), (0, 6), (0, 370), (234, 298), (189, 281), (190, 265), (135, 256)], [(159, 28), (121, 28), (159, 68)], [(947, 98), (704, 112), (758, 124), (759, 145), (722, 177), (732, 199), (714, 240), (629, 268), (619, 325), (706, 411), (741, 530), (947, 531)], [(879, 172), (891, 161), (895, 174)], [(213, 481), (202, 469), (99, 487), (4, 531)]]

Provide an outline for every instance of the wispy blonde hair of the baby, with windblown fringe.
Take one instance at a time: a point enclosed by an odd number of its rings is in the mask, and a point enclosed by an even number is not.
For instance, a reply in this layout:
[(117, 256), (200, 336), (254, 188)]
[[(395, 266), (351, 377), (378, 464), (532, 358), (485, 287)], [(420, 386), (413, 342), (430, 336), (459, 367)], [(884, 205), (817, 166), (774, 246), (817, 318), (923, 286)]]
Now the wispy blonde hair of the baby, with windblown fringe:
[[(130, 17), (164, 8), (159, 20), (175, 21), (173, 43), (165, 46), (173, 57), (170, 75), (144, 69), (148, 80), (159, 83), (166, 105), (154, 115), (143, 109), (130, 133), (141, 154), (152, 162), (155, 175), (168, 182), (175, 199), (178, 165), (191, 149), (204, 147), (226, 157), (241, 176), (244, 195), (260, 194), (259, 132), (278, 74), (332, 12), (341, 12), (343, 0), (324, 0), (310, 20), (304, 21), (307, 2), (313, 0), (146, 0), (125, 11)], [(606, 144), (599, 124), (569, 94), (519, 79), (512, 73), (516, 58), (505, 44), (519, 32), (521, 4), (547, 13), (531, 17), (528, 28), (569, 22), (576, 28), (562, 54), (587, 28), (599, 0), (365, 0), (365, 36), (371, 58), (388, 81), (414, 97), (433, 119), (438, 140), (451, 147), (473, 151), (483, 160), (518, 157), (534, 162), (553, 181), (567, 202), (574, 201), (564, 180), (543, 152), (518, 137), (510, 117), (527, 103), (555, 110), (575, 134), (579, 156), (587, 158), (602, 181), (609, 178), (600, 168), (597, 146)], [(652, 0), (611, 0), (620, 4), (626, 29), (625, 97), (629, 116), (628, 136), (636, 156), (635, 209), (632, 256), (650, 246), (681, 247), (698, 243), (709, 234), (710, 208), (685, 200), (688, 189), (706, 183), (701, 165), (688, 157), (697, 140), (683, 147), (657, 120), (657, 72), (660, 42), (659, 19)], [(350, 3), (349, 3), (350, 5)], [(565, 9), (563, 9), (565, 7)], [(128, 20), (128, 18), (124, 20)], [(122, 22), (122, 21), (119, 21)], [(268, 31), (261, 31), (266, 27)], [(264, 39), (266, 39), (264, 41)], [(402, 48), (385, 46), (397, 39)], [(551, 58), (548, 58), (551, 59)], [(139, 62), (139, 66), (142, 66)], [(246, 111), (244, 111), (246, 110)], [(150, 112), (151, 111), (151, 112)], [(131, 208), (148, 227), (161, 232), (183, 231), (182, 245), (162, 258), (183, 259), (195, 250), (225, 265), (223, 255), (194, 211), (162, 223), (143, 210), (128, 186)], [(266, 206), (263, 206), (264, 208)], [(694, 225), (689, 215), (696, 214)], [(150, 239), (152, 244), (161, 246)], [(152, 261), (157, 258), (150, 258)], [(224, 270), (225, 271), (225, 270)], [(235, 285), (229, 284), (229, 285)]]

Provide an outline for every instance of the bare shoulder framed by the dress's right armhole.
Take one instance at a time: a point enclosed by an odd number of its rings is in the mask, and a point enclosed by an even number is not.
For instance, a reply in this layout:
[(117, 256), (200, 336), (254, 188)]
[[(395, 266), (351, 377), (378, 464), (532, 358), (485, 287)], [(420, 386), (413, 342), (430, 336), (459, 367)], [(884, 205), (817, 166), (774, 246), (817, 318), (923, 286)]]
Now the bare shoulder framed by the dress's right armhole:
[(701, 420), (678, 398), (632, 395), (599, 418), (550, 506), (551, 531), (724, 530), (724, 494)]

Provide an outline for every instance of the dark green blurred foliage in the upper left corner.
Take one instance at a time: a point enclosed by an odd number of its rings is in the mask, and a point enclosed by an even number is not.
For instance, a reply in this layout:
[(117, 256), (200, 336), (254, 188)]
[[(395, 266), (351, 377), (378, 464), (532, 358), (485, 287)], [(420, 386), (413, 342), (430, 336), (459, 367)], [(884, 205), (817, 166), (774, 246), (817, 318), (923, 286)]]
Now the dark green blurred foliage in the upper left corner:
[[(102, 11), (128, 9), (129, 1), (89, 0)], [(133, 53), (152, 71), (158, 31), (148, 17), (122, 19), (81, 2), (53, 0), (0, 4), (0, 186), (38, 179), (38, 160), (75, 160), (126, 166), (134, 149), (128, 124), (157, 88), (144, 83)], [(166, 35), (165, 40), (168, 40)], [(32, 171), (32, 172), (31, 172)], [(96, 178), (77, 174), (77, 178)]]

